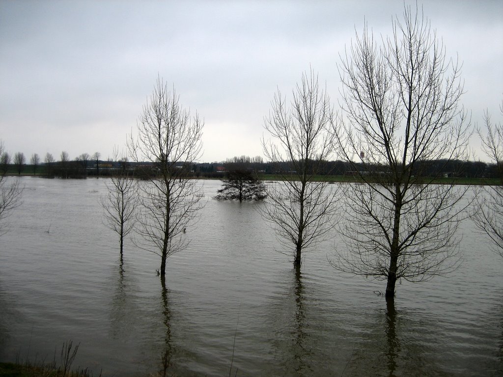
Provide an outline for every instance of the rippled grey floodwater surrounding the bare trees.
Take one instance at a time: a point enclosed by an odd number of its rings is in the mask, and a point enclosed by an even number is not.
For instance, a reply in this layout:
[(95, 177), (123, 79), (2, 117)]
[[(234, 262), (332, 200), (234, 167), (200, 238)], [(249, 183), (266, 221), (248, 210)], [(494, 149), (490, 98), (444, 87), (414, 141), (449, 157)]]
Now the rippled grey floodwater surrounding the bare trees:
[[(463, 264), (449, 277), (397, 288), (343, 275), (327, 262), (337, 238), (305, 254), (300, 275), (256, 211), (212, 198), (185, 234), (187, 250), (158, 256), (102, 222), (105, 179), (21, 178), (23, 205), (0, 237), (0, 361), (52, 360), (80, 343), (74, 366), (148, 375), (172, 355), (177, 375), (503, 375), (503, 258), (464, 224)], [(203, 181), (201, 181), (203, 183)], [(49, 230), (49, 233), (46, 231)]]

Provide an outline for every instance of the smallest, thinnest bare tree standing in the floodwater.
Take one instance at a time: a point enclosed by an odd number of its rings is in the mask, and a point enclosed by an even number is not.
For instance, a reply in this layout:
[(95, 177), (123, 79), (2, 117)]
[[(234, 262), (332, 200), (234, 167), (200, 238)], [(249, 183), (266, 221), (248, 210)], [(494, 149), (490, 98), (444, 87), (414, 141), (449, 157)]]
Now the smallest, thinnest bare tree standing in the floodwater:
[[(124, 155), (119, 160), (118, 155), (118, 150), (114, 149), (114, 159), (116, 161), (127, 160)], [(124, 237), (134, 229), (136, 220), (137, 184), (127, 170), (121, 169), (116, 176), (112, 176), (111, 183), (106, 183), (106, 186), (108, 194), (101, 197), (100, 203), (105, 211), (108, 226), (119, 235), (122, 260)]]

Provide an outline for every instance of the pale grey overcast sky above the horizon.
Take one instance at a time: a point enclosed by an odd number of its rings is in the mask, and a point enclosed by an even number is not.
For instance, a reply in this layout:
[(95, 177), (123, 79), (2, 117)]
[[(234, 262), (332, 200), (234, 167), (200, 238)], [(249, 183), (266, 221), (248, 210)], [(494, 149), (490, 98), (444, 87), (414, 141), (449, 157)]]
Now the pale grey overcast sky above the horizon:
[[(415, 7), (415, 1), (405, 0)], [(337, 64), (361, 34), (391, 34), (399, 1), (0, 0), (0, 138), (27, 159), (125, 145), (157, 75), (205, 120), (201, 161), (262, 155), (277, 88), (303, 71), (338, 109)], [(423, 1), (447, 56), (463, 62), (464, 107), (499, 120), (503, 2)], [(474, 148), (478, 145), (473, 140)]]

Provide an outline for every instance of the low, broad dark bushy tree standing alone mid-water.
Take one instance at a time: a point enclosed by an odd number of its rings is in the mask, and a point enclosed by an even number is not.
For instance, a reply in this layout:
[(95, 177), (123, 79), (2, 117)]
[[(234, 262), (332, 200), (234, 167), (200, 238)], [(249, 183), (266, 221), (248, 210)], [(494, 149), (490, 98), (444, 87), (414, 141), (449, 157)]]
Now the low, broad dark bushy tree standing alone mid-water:
[(263, 200), (267, 197), (266, 185), (249, 170), (230, 170), (227, 172), (227, 178), (222, 179), (222, 182), (222, 188), (218, 190), (215, 199), (242, 202), (243, 200)]

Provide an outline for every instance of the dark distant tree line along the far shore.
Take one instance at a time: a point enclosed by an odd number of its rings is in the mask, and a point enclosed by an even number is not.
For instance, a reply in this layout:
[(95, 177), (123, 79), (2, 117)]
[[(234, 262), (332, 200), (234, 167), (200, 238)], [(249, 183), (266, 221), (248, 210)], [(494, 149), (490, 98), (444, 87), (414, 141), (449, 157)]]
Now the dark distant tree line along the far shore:
[[(309, 161), (307, 163), (309, 164)], [(222, 178), (226, 172), (236, 169), (249, 170), (258, 174), (295, 173), (291, 171), (290, 166), (291, 161), (273, 163), (265, 162), (260, 156), (240, 156), (220, 162), (192, 163), (185, 169), (186, 173), (194, 178)], [(117, 176), (122, 170), (127, 169), (141, 178), (145, 174), (145, 168), (147, 170), (150, 168), (150, 174), (155, 174), (158, 170), (153, 162), (134, 162), (128, 161), (127, 158), (118, 161), (100, 160), (99, 157), (96, 158), (96, 153), (93, 156), (83, 153), (73, 160), (69, 159), (65, 151), (61, 152), (59, 160), (50, 153), (41, 160), (39, 155), (34, 153), (30, 163), (27, 163), (22, 152), (15, 153), (14, 158), (8, 152), (0, 156), (0, 171), (10, 175), (33, 174), (49, 178), (85, 178), (87, 176)], [(341, 160), (324, 161), (320, 166), (316, 166), (317, 175), (357, 175), (361, 172), (371, 174), (383, 173), (387, 170), (389, 169), (385, 165)], [(425, 160), (418, 161), (412, 170), (412, 174), (416, 176), (438, 176), (439, 172), (446, 177), (499, 177), (498, 165), (483, 161)]]

